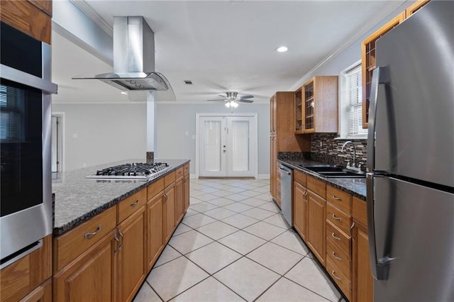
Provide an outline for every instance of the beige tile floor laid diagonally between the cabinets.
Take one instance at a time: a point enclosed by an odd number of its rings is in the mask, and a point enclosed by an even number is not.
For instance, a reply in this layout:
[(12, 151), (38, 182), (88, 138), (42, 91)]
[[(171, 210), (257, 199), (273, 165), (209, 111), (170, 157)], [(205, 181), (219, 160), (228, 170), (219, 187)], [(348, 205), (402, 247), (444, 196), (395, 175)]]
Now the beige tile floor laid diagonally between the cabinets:
[(189, 210), (134, 301), (343, 301), (269, 191), (269, 179), (191, 179)]

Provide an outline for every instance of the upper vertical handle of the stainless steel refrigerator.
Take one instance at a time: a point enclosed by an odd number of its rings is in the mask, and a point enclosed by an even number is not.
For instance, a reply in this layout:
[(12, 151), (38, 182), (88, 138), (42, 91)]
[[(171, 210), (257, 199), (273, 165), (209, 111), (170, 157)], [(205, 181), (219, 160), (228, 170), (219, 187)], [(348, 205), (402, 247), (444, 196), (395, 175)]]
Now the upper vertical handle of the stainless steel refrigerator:
[(376, 67), (372, 72), (372, 83), (370, 86), (369, 121), (367, 128), (367, 170), (372, 172), (375, 169), (375, 128), (377, 125), (377, 98), (379, 84), (387, 82), (387, 69)]

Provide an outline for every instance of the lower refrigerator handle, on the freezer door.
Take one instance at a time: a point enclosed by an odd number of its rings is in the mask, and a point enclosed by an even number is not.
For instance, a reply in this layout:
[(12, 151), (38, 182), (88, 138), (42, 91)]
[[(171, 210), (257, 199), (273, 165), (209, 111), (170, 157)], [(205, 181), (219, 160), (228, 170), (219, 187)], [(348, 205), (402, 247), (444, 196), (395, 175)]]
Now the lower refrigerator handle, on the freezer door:
[(376, 280), (386, 280), (388, 276), (388, 264), (394, 258), (389, 256), (377, 257), (377, 242), (375, 237), (375, 213), (374, 213), (374, 177), (373, 173), (367, 173), (367, 236), (369, 237), (369, 259), (372, 276)]

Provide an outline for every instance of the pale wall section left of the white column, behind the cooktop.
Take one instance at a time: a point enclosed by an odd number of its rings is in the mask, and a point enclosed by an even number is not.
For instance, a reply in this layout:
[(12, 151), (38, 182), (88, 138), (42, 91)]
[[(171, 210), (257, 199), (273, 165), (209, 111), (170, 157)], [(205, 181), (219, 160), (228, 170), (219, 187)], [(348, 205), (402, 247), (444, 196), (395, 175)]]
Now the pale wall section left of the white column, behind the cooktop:
[[(146, 104), (52, 104), (65, 112), (63, 169), (145, 159)], [(77, 134), (77, 138), (74, 138)]]

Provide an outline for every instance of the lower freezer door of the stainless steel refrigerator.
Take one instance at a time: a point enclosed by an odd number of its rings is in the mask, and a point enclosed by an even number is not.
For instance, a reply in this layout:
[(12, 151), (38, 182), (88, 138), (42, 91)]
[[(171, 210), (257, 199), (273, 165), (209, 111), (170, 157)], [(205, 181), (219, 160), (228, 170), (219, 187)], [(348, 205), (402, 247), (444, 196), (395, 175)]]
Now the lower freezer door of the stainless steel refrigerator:
[(372, 272), (377, 259), (388, 260), (374, 301), (454, 301), (454, 194), (389, 177), (372, 181)]

